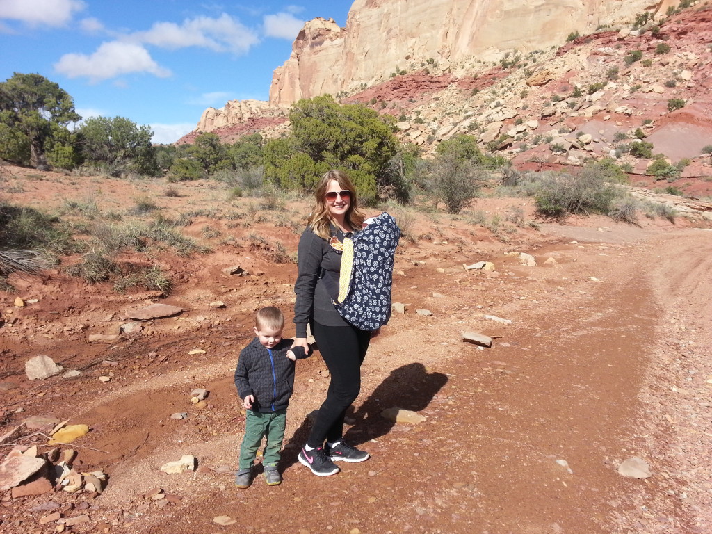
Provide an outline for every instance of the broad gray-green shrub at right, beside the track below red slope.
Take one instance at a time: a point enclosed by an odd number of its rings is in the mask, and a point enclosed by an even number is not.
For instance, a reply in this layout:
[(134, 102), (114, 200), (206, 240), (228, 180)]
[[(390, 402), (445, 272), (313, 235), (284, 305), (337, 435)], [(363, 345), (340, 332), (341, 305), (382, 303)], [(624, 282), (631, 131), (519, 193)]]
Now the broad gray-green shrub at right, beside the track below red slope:
[(608, 213), (619, 196), (599, 169), (584, 167), (578, 174), (548, 175), (538, 182), (534, 195), (538, 214), (562, 217), (568, 214)]

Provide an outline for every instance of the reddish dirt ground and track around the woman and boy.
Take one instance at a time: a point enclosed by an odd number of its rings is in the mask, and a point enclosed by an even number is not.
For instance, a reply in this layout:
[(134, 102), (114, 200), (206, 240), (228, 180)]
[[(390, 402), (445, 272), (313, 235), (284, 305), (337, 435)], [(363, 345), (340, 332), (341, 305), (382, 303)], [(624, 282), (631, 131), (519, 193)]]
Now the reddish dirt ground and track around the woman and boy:
[[(89, 523), (70, 528), (78, 533), (712, 531), (708, 230), (683, 221), (637, 227), (591, 217), (540, 224), (539, 231), (512, 226), (503, 243), (469, 222), (473, 212), (504, 217), (518, 205), (530, 219), (528, 201), (478, 199), (458, 217), (412, 214), (416, 239), (404, 239), (394, 276), (394, 300), (407, 303), (407, 312), (394, 314), (372, 344), (347, 434), (372, 459), (326, 478), (296, 462), (308, 432), (305, 416), (328, 386), (316, 355), (298, 362), (284, 482), (268, 487), (258, 477), (239, 490), (233, 471), (244, 413), (232, 382), (236, 357), (251, 337), (253, 310), (278, 305), (290, 320), (296, 272), (294, 263), (273, 264), (251, 249), (248, 234), (281, 241), (293, 253), (298, 234), (280, 223), (293, 221), (298, 229), (308, 205), (295, 200), (280, 212), (261, 211), (249, 207), (254, 199), (224, 200), (224, 190), (209, 182), (176, 184), (183, 196), (169, 198), (160, 196), (160, 182), (24, 170), (5, 186), (4, 199), (19, 205), (57, 206), (91, 193), (103, 212), (125, 213), (132, 198), (146, 194), (166, 215), (236, 209), (244, 219), (229, 227), (226, 219), (197, 216), (187, 233), (198, 237), (202, 226), (219, 226), (223, 244), (212, 239), (213, 253), (191, 258), (159, 253), (176, 282), (167, 298), (121, 295), (60, 270), (43, 279), (13, 277), (17, 292), (0, 292), (7, 411), (0, 434), (37, 414), (88, 424), (90, 433), (65, 448), (78, 451), (83, 470), (110, 475), (93, 499), (61, 491), (18, 500), (2, 494), (4, 533), (55, 531), (54, 523), (38, 522), (46, 512), (30, 511), (47, 501), (59, 503), (65, 517), (90, 515)], [(538, 266), (520, 265), (506, 255), (511, 251), (532, 254)], [(545, 264), (548, 258), (556, 263)], [(495, 263), (497, 273), (462, 266), (481, 260)], [(235, 264), (261, 274), (221, 273)], [(14, 308), (17, 296), (38, 302)], [(209, 307), (218, 299), (226, 308)], [(87, 342), (91, 333), (114, 333), (123, 313), (147, 301), (185, 311), (150, 321), (140, 337), (116, 345)], [(463, 342), (463, 330), (494, 337), (493, 347)], [(293, 335), (290, 323), (286, 334)], [(206, 352), (188, 355), (194, 348)], [(83, 375), (29, 382), (23, 365), (38, 354)], [(107, 383), (98, 380), (107, 370), (92, 365), (104, 359), (118, 363)], [(195, 387), (209, 389), (208, 407), (189, 402)], [(392, 424), (379, 415), (388, 407), (427, 420)], [(189, 417), (170, 419), (174, 412)], [(197, 456), (200, 472), (159, 471), (182, 454)], [(651, 478), (617, 473), (632, 456), (648, 461)], [(144, 497), (156, 487), (182, 500), (158, 508)], [(218, 515), (236, 523), (216, 525)]]

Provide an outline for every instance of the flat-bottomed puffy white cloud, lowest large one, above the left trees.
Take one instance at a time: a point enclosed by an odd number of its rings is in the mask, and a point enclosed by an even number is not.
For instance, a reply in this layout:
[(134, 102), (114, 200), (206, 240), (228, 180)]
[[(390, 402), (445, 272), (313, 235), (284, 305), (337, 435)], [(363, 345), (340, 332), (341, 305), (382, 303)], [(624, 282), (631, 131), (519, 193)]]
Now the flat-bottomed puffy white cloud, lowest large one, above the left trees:
[(159, 78), (171, 75), (158, 65), (140, 44), (111, 41), (102, 43), (91, 56), (69, 53), (62, 56), (54, 69), (68, 78), (85, 76), (93, 82), (128, 73), (150, 73)]

